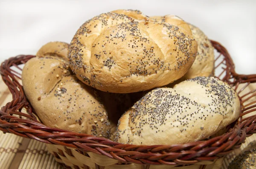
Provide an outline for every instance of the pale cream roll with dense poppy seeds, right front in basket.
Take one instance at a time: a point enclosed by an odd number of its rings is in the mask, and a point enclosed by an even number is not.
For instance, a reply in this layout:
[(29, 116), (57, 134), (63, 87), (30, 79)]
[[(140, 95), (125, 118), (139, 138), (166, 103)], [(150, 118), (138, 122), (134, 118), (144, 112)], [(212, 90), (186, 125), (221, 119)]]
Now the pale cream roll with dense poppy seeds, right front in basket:
[(235, 121), (239, 113), (239, 98), (227, 83), (197, 77), (143, 96), (120, 118), (115, 141), (135, 145), (199, 141)]

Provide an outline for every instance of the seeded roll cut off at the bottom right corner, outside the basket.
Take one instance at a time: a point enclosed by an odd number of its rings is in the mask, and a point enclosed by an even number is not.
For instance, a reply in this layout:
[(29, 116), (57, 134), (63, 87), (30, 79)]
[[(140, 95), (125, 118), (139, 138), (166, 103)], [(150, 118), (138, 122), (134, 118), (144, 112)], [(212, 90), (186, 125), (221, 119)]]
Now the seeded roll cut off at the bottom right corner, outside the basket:
[(244, 153), (238, 155), (228, 166), (228, 169), (256, 169), (255, 142), (250, 143)]

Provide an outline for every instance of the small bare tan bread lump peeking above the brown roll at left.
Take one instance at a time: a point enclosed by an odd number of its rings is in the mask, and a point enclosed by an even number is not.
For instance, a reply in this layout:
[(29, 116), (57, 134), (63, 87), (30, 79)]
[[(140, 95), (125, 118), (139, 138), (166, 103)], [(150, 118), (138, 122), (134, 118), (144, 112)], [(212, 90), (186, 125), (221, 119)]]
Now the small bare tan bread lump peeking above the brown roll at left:
[(49, 42), (42, 46), (37, 52), (37, 57), (56, 57), (68, 61), (68, 44), (65, 42)]

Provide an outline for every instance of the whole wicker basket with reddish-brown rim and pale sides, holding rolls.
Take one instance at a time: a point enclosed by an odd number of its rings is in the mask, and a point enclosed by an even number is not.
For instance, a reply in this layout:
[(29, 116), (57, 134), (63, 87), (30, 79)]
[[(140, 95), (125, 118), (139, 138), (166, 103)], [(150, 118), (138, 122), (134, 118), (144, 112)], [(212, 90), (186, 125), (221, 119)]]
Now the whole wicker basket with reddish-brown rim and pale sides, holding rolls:
[(256, 90), (244, 89), (256, 82), (256, 75), (239, 75), (227, 50), (212, 41), (216, 49), (215, 75), (234, 87), (241, 102), (240, 118), (228, 132), (205, 141), (188, 144), (137, 146), (106, 138), (47, 127), (38, 120), (27, 100), (20, 72), (34, 56), (20, 55), (2, 63), (0, 73), (13, 100), (0, 110), (0, 130), (47, 143), (58, 163), (74, 169), (219, 169), (224, 155), (256, 132)]

